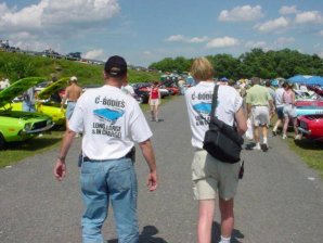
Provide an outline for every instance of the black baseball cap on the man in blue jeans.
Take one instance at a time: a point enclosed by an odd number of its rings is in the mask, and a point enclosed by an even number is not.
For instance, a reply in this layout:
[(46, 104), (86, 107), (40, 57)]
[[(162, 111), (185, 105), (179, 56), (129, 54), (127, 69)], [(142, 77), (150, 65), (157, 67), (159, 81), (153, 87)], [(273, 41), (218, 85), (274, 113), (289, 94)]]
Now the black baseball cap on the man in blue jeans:
[(119, 55), (111, 56), (104, 65), (105, 73), (115, 78), (121, 78), (127, 75), (127, 68), (126, 60)]

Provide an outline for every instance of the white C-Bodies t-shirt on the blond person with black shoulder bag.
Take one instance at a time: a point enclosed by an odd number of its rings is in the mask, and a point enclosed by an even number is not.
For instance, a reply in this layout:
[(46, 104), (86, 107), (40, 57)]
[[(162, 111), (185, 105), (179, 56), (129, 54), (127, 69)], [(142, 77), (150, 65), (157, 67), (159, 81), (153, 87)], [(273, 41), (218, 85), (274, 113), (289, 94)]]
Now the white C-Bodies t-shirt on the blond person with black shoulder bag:
[[(214, 89), (214, 82), (199, 81), (195, 87), (189, 88), (185, 93), (191, 130), (193, 133), (192, 145), (198, 149), (203, 149), (205, 132), (208, 130)], [(242, 103), (243, 99), (234, 88), (230, 86), (219, 86), (216, 116), (232, 126), (234, 114), (240, 110)]]

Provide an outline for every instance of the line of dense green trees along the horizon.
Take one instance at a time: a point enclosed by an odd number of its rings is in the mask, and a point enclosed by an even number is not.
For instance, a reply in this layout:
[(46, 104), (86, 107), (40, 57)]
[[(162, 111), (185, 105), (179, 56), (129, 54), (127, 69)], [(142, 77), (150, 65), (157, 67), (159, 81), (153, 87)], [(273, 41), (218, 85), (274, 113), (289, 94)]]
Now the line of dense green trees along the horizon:
[[(233, 57), (231, 54), (216, 54), (205, 57), (212, 64), (217, 77), (272, 79), (277, 77), (289, 78), (298, 74), (323, 76), (323, 59), (316, 54), (309, 55), (289, 49), (267, 52), (262, 49), (253, 49), (238, 57)], [(181, 74), (190, 69), (193, 60), (183, 56), (166, 57), (152, 63), (150, 68), (162, 72), (176, 71)]]

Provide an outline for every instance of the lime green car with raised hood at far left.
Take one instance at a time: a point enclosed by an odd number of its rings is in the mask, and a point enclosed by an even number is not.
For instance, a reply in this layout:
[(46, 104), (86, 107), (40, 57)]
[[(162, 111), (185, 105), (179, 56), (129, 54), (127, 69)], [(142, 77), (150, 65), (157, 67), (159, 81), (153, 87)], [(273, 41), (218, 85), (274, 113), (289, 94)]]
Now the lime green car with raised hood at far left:
[(10, 103), (43, 78), (23, 78), (0, 92), (0, 148), (7, 142), (25, 141), (54, 126), (50, 116), (40, 113), (12, 111)]

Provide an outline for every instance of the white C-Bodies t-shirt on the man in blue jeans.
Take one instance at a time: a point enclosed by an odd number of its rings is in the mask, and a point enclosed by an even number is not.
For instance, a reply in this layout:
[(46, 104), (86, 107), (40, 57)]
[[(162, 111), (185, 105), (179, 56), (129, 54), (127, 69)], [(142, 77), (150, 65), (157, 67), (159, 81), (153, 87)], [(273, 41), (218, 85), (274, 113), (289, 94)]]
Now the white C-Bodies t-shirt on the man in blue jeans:
[(153, 135), (138, 102), (113, 86), (87, 90), (77, 101), (69, 129), (83, 132), (82, 153), (92, 159), (124, 157), (133, 141)]

